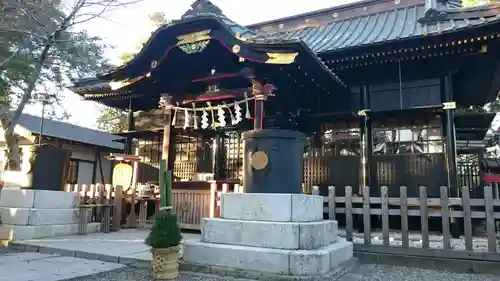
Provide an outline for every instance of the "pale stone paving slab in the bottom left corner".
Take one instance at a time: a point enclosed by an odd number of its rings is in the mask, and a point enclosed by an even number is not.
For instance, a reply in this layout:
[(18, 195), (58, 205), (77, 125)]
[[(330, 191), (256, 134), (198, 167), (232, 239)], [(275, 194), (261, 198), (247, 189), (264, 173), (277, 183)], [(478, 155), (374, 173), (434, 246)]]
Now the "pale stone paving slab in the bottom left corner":
[(0, 251), (0, 281), (58, 281), (121, 267), (124, 266), (59, 255)]

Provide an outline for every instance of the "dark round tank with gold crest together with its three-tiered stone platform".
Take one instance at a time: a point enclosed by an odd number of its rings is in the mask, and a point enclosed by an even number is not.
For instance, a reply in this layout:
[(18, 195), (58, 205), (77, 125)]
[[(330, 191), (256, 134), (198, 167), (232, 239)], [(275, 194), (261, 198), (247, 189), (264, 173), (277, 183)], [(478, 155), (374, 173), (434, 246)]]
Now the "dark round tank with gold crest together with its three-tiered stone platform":
[(297, 194), (304, 136), (254, 130), (243, 139), (251, 193), (222, 194), (221, 217), (203, 219), (201, 240), (184, 242), (181, 270), (260, 280), (345, 274), (354, 264), (352, 243), (338, 236), (336, 221), (323, 220), (323, 197)]

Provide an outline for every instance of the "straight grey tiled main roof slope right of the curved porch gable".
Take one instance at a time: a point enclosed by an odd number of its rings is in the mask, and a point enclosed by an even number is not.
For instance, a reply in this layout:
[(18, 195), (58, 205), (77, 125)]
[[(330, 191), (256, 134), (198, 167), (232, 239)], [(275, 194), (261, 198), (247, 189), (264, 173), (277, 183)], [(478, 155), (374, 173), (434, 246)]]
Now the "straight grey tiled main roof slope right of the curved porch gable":
[[(455, 14), (460, 16), (455, 17)], [(417, 5), (335, 21), (323, 26), (274, 33), (268, 38), (274, 40), (299, 38), (314, 52), (323, 53), (442, 34), (500, 20), (500, 15), (490, 13), (482, 17), (468, 18), (467, 12), (462, 9), (449, 9), (446, 15), (447, 17), (422, 23), (426, 16), (429, 17), (428, 10), (425, 5)]]

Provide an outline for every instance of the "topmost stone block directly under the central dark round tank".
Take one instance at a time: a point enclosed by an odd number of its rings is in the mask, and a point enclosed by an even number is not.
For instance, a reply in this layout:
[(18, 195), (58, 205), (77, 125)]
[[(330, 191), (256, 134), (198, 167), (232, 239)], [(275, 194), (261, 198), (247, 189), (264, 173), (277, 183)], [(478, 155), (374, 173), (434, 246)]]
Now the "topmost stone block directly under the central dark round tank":
[(225, 193), (222, 194), (221, 204), (221, 217), (225, 219), (274, 222), (323, 220), (323, 198), (321, 196)]

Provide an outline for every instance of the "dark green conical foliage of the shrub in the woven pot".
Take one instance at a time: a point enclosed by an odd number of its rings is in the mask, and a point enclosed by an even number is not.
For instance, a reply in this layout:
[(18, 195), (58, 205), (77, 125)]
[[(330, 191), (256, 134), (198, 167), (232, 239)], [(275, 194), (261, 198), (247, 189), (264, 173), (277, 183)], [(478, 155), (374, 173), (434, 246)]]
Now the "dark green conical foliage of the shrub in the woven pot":
[(165, 249), (181, 244), (181, 228), (176, 214), (161, 210), (156, 212), (154, 220), (153, 228), (144, 241), (147, 245), (154, 249)]

